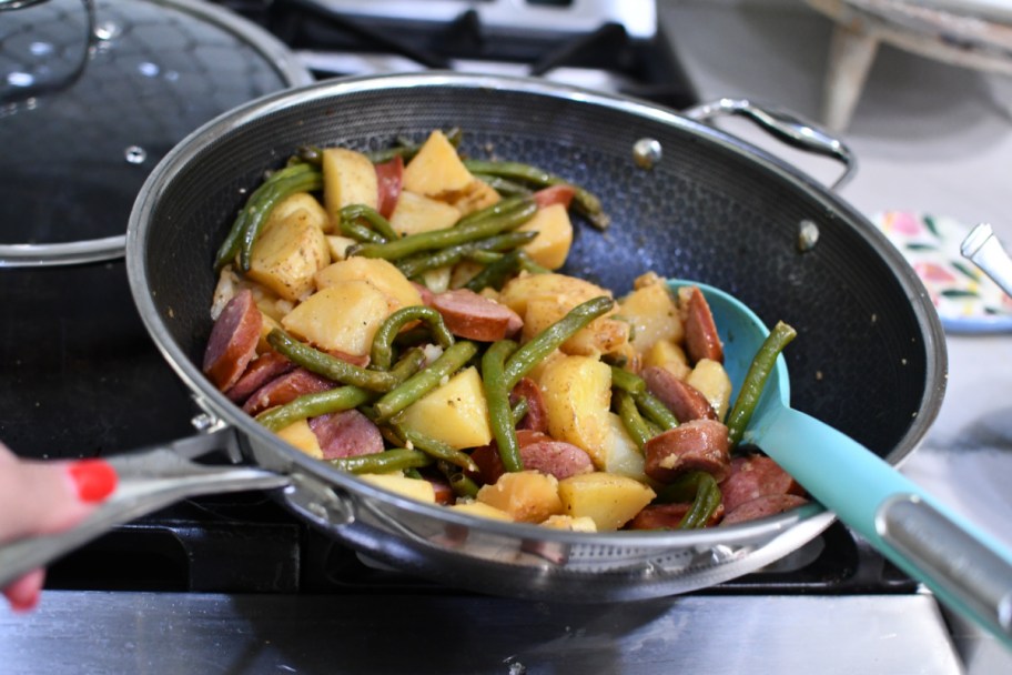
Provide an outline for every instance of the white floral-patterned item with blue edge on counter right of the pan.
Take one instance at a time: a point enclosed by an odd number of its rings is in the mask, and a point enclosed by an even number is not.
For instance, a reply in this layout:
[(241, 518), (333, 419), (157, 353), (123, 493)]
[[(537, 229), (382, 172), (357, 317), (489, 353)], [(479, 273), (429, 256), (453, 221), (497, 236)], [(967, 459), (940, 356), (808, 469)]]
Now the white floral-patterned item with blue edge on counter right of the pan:
[(884, 211), (871, 221), (913, 266), (947, 330), (1012, 330), (1012, 299), (960, 253), (970, 228), (910, 211)]

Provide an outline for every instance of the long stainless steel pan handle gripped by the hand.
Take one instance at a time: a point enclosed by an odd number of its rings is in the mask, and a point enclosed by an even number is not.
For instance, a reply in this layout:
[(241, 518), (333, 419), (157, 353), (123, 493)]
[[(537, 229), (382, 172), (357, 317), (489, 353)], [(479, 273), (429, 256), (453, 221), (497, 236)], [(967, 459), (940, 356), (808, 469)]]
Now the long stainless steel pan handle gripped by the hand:
[(119, 483), (94, 513), (75, 527), (30, 536), (0, 546), (0, 588), (112, 530), (148, 513), (204, 494), (272, 490), (289, 485), (289, 476), (242, 465), (202, 465), (190, 461), (235, 443), (225, 429), (136, 453), (109, 459)]

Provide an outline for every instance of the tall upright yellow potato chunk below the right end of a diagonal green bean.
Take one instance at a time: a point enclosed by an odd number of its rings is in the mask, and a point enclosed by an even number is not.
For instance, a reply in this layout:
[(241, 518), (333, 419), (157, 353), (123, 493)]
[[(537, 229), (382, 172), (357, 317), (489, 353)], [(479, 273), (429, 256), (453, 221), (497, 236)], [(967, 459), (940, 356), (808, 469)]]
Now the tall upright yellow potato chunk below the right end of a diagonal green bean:
[(560, 356), (545, 366), (538, 383), (549, 435), (581, 447), (603, 469), (611, 435), (611, 369), (590, 356)]

